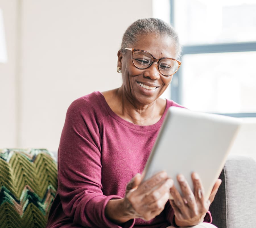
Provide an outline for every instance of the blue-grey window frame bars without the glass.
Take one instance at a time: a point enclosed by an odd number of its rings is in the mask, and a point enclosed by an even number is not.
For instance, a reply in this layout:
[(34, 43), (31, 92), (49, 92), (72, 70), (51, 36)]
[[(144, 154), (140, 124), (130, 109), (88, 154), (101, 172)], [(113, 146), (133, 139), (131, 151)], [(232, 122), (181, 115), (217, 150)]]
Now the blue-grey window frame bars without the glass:
[[(170, 23), (175, 28), (175, 0), (170, 0)], [(187, 54), (207, 54), (207, 53), (231, 53), (231, 52), (251, 52), (256, 51), (255, 42), (232, 42), (232, 43), (216, 43), (216, 44), (197, 44), (182, 46), (182, 57)], [(171, 99), (181, 104), (182, 101), (182, 64), (179, 70), (174, 74), (171, 83)], [(232, 117), (256, 117), (256, 113), (218, 113)]]

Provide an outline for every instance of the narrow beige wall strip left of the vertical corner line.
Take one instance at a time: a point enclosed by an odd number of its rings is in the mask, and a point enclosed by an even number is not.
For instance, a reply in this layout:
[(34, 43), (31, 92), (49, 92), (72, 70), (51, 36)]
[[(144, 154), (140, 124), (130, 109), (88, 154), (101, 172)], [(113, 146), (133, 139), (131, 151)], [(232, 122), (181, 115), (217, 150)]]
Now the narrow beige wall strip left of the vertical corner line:
[(0, 148), (16, 146), (16, 66), (18, 1), (0, 0), (5, 25), (8, 62), (0, 63)]

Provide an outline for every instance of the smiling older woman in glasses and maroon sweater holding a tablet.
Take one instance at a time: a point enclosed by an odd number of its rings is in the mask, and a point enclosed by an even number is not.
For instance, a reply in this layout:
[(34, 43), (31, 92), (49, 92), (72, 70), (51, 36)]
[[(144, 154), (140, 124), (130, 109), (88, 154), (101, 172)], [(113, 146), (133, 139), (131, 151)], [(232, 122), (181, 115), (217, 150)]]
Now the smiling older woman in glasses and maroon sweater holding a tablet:
[(179, 54), (177, 34), (160, 19), (127, 28), (117, 53), (121, 87), (80, 97), (67, 111), (47, 227), (214, 227), (208, 208), (220, 180), (209, 199), (195, 173), (194, 192), (177, 177), (183, 197), (165, 172), (142, 182), (168, 108), (181, 107), (160, 98), (181, 64)]

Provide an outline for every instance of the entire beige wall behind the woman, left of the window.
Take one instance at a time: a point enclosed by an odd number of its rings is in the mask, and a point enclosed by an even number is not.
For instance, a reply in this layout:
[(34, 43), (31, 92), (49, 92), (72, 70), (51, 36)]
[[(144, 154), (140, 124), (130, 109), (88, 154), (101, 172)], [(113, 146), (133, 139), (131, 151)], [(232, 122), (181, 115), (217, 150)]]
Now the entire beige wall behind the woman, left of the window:
[(0, 7), (9, 56), (0, 65), (0, 148), (57, 150), (69, 104), (121, 85), (122, 34), (152, 17), (152, 1), (0, 0)]

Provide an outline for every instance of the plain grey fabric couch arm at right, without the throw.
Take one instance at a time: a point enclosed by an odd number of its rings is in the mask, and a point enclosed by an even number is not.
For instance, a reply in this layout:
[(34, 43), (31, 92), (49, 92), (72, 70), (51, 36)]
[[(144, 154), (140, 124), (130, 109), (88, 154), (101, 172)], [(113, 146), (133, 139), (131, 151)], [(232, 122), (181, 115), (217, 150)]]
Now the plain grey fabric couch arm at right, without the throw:
[(219, 228), (256, 227), (256, 162), (230, 156), (220, 174), (222, 184), (210, 211)]

